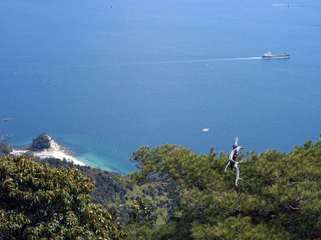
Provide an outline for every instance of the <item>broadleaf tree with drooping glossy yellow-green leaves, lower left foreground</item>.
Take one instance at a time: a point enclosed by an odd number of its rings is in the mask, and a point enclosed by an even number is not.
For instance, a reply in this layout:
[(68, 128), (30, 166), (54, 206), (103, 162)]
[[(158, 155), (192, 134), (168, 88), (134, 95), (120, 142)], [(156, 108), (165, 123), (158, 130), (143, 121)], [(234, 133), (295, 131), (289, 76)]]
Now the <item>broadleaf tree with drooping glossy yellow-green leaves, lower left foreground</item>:
[(2, 157), (0, 239), (123, 239), (117, 218), (91, 203), (93, 190), (77, 168)]

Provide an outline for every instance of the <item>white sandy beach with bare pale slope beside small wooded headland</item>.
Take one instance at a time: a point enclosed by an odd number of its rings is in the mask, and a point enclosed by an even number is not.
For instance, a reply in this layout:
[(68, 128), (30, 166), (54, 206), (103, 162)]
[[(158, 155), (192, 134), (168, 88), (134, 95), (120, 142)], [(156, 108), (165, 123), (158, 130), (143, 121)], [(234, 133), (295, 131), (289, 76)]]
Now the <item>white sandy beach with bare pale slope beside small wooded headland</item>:
[[(49, 149), (41, 151), (41, 152), (33, 152), (33, 155), (38, 156), (40, 158), (57, 158), (57, 159), (61, 159), (61, 160), (65, 158), (68, 161), (73, 161), (74, 164), (86, 166), (86, 164), (84, 164), (83, 162), (66, 154), (69, 151), (66, 150), (64, 147), (58, 145), (53, 139), (50, 139), (50, 145), (51, 145), (51, 147)], [(10, 154), (20, 156), (25, 152), (26, 152), (26, 150), (21, 151), (21, 150), (13, 149), (13, 151)]]

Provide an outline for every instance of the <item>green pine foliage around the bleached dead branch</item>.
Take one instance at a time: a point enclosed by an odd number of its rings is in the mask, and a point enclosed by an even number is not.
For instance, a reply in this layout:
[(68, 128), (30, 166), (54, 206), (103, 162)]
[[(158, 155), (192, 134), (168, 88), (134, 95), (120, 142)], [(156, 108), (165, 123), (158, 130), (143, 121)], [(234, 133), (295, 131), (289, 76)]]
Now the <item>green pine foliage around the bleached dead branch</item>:
[(319, 141), (289, 153), (242, 152), (239, 174), (252, 185), (235, 185), (236, 171), (224, 172), (229, 155), (168, 144), (133, 152), (140, 171), (131, 181), (158, 183), (178, 204), (167, 231), (160, 226), (141, 239), (321, 239)]

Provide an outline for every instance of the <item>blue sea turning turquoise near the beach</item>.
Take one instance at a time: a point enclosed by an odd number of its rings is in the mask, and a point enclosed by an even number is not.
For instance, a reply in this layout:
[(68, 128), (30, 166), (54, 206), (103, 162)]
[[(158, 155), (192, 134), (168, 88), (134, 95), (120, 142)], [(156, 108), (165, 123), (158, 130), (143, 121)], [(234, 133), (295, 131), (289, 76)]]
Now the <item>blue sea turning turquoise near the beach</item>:
[(321, 133), (320, 15), (315, 0), (0, 1), (0, 133), (46, 132), (121, 174), (142, 144), (291, 151)]

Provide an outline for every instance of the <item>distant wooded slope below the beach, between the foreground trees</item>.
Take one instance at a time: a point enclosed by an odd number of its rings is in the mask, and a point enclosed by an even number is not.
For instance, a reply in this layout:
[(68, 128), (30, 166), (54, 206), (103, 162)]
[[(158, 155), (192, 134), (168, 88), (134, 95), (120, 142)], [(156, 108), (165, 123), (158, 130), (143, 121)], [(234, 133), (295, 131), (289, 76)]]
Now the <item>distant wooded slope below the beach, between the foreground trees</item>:
[(166, 217), (171, 214), (176, 206), (161, 188), (154, 185), (138, 186), (130, 183), (128, 179), (118, 173), (108, 172), (99, 168), (90, 166), (75, 165), (67, 160), (56, 158), (34, 157), (31, 151), (25, 154), (28, 158), (33, 158), (40, 163), (48, 163), (53, 167), (64, 167), (70, 169), (77, 167), (82, 174), (90, 177), (95, 181), (95, 190), (91, 193), (91, 199), (95, 203), (100, 203), (105, 208), (112, 207), (117, 209), (120, 221), (124, 224), (127, 222), (131, 204), (134, 200), (145, 199), (149, 201), (151, 207), (160, 213), (160, 216)]

